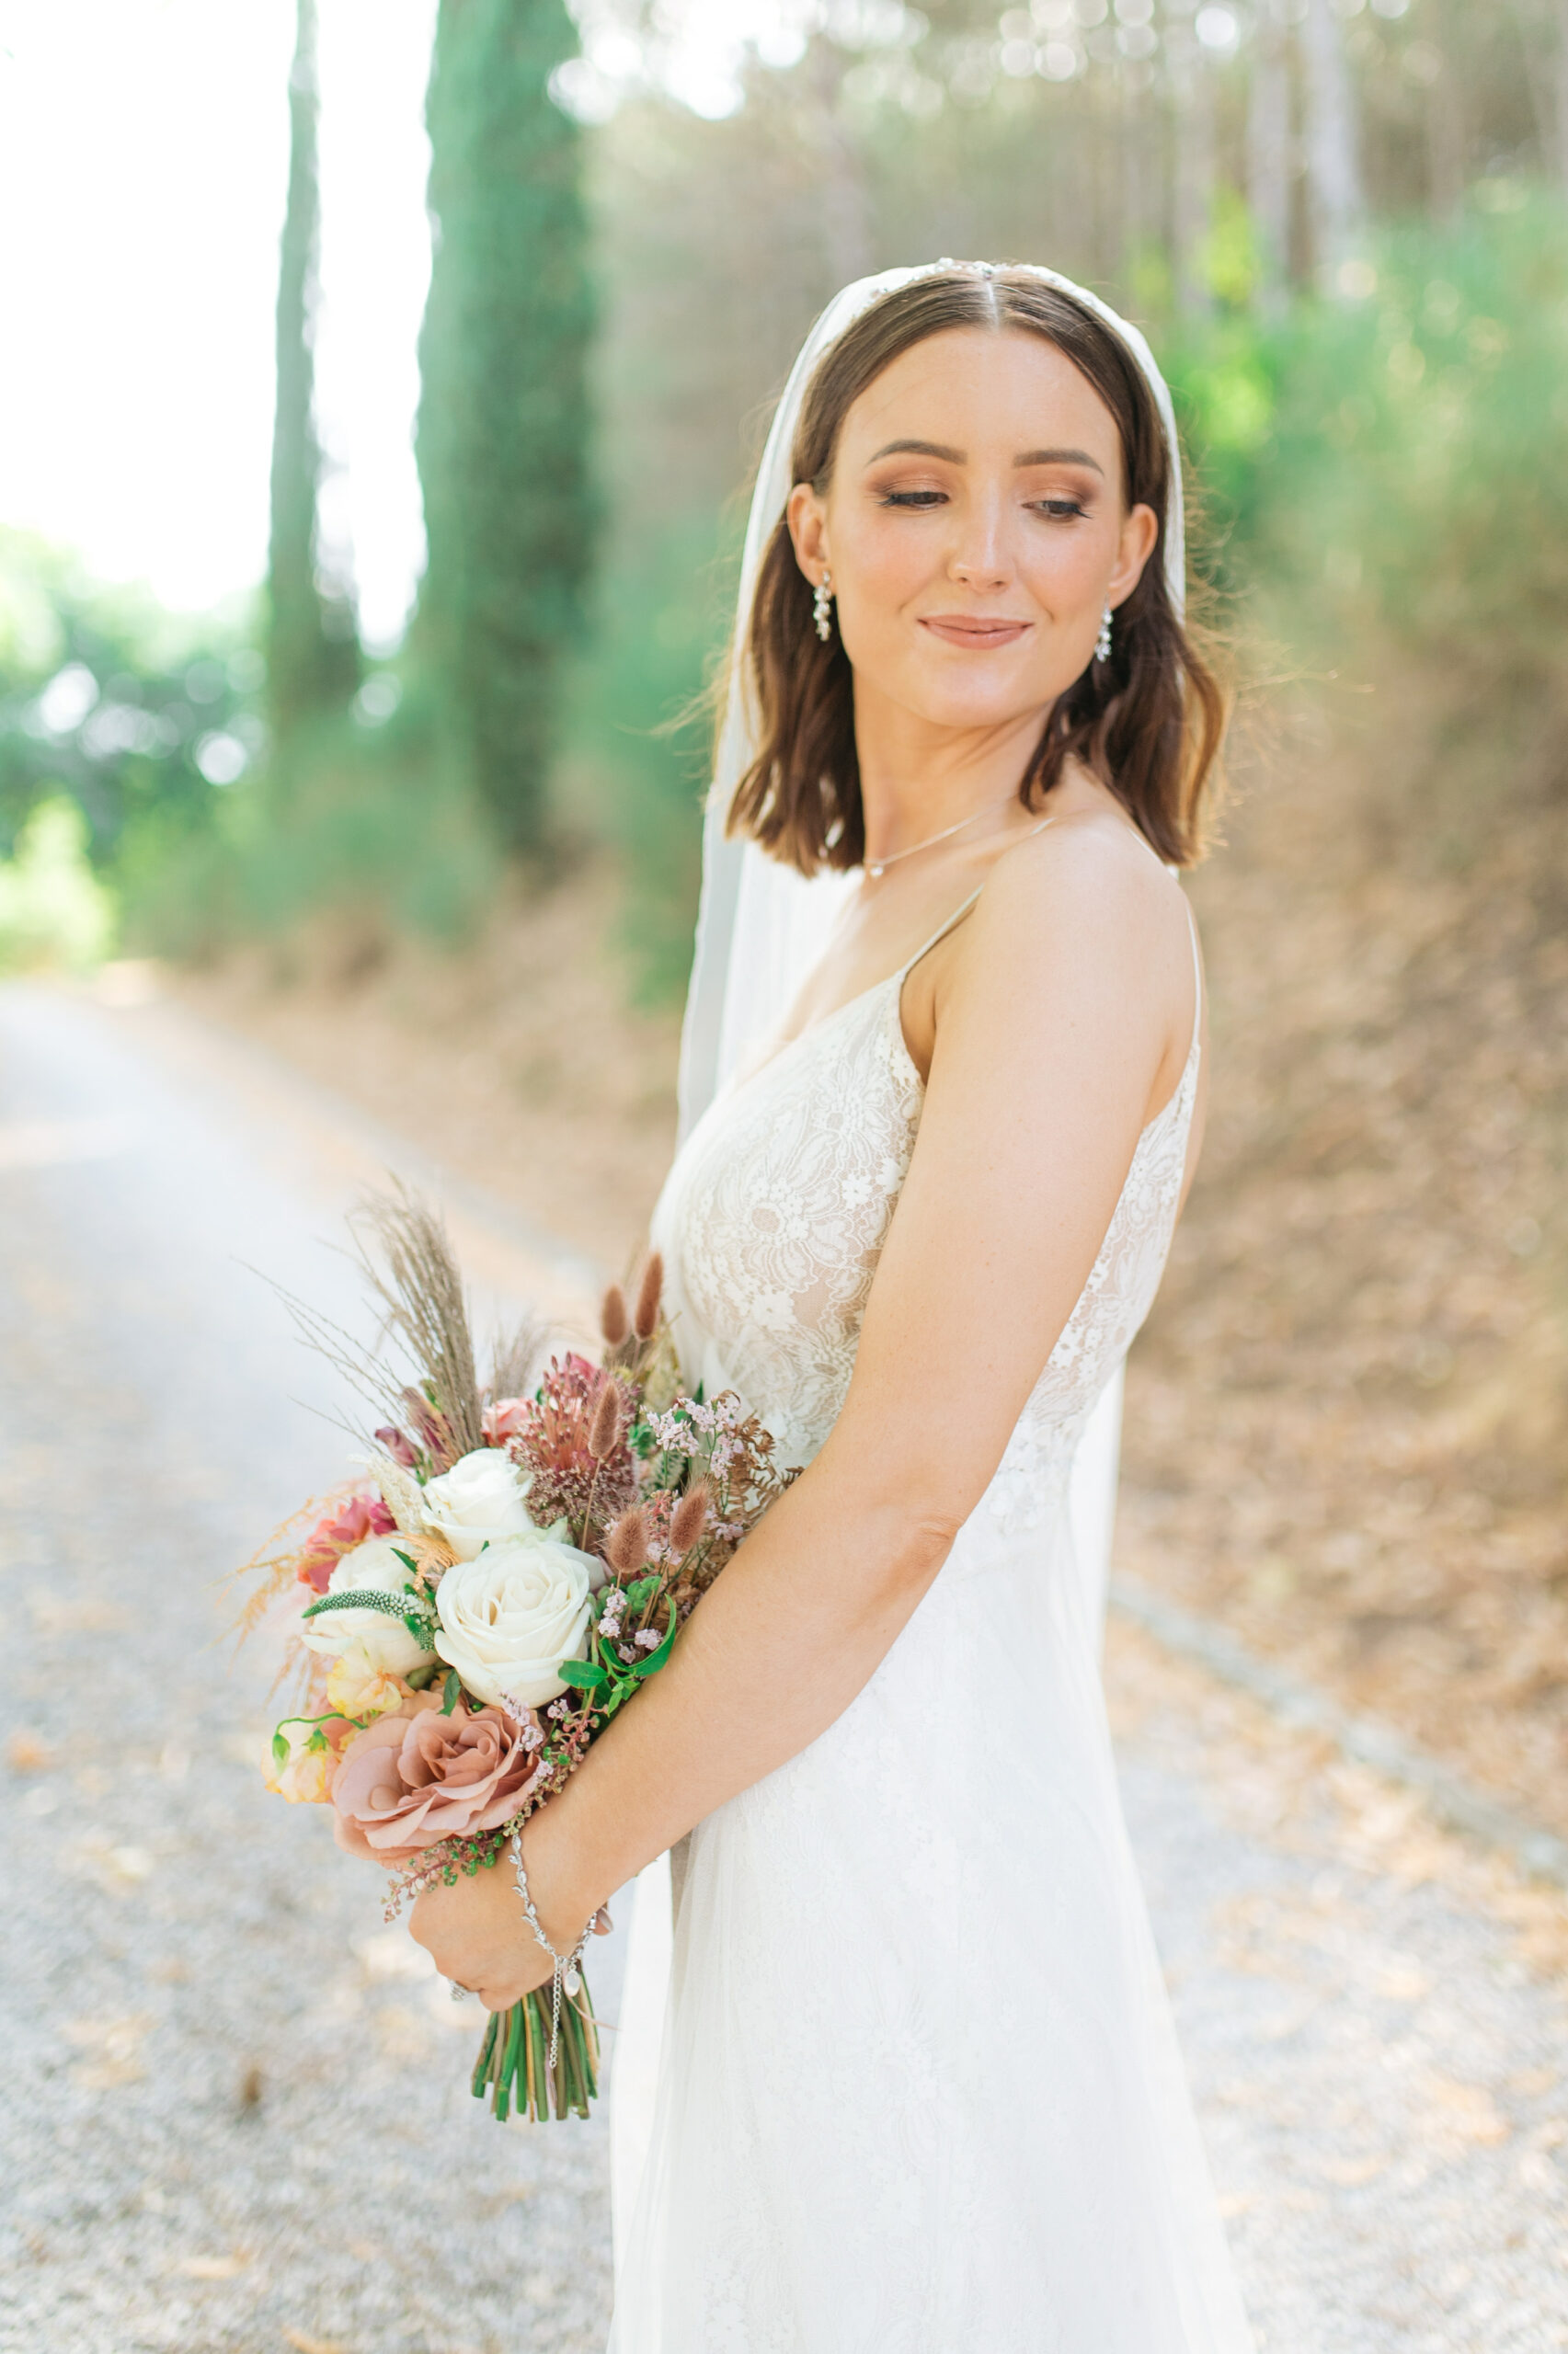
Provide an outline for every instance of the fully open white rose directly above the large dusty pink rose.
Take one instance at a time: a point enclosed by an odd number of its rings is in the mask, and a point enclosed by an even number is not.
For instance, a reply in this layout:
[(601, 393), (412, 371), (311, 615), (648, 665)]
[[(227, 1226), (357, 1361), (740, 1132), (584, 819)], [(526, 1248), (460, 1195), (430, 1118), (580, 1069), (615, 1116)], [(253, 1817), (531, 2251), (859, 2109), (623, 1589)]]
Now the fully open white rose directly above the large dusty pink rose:
[(589, 1648), (603, 1577), (603, 1561), (542, 1528), (497, 1537), (476, 1561), (443, 1570), (436, 1650), (480, 1700), (537, 1709), (565, 1693), (560, 1660)]

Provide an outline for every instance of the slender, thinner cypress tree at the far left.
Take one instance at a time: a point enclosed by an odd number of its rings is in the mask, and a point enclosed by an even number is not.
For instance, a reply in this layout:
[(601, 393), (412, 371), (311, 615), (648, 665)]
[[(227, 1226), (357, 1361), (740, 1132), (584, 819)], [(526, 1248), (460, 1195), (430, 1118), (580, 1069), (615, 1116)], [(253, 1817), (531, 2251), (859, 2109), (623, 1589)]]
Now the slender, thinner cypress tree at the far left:
[(315, 497), (315, 0), (299, 0), (290, 73), (290, 195), (278, 271), (278, 410), (273, 417), (273, 530), (266, 570), (266, 678), (273, 744), (287, 749), (308, 720), (341, 709), (358, 683), (353, 610), (318, 584)]

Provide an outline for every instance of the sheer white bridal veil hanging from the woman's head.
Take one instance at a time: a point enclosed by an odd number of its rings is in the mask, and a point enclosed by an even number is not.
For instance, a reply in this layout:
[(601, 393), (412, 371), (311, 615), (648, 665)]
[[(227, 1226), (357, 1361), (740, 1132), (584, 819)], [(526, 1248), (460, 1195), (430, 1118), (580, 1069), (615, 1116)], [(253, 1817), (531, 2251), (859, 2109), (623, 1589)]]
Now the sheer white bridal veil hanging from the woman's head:
[[(756, 579), (772, 539), (772, 530), (784, 513), (793, 487), (791, 452), (800, 403), (824, 351), (838, 341), (845, 327), (859, 318), (881, 294), (895, 292), (916, 278), (930, 278), (956, 264), (935, 261), (923, 268), (883, 271), (876, 278), (857, 278), (843, 287), (826, 306), (789, 372), (789, 384), (772, 419), (763, 464), (751, 497), (746, 523), (746, 548), (742, 558), (739, 600), (735, 619), (735, 652), (730, 673), (730, 701), (718, 746), (713, 789), (702, 836), (702, 906), (697, 913), (697, 956), (692, 963), (692, 986), (685, 1005), (685, 1029), (680, 1036), (680, 1137), (695, 1128), (713, 1095), (744, 1057), (779, 1029), (805, 975), (826, 946), (833, 920), (845, 897), (857, 890), (855, 873), (822, 873), (805, 878), (793, 866), (770, 859), (756, 843), (730, 840), (725, 819), (739, 779), (756, 758), (756, 711), (746, 692), (744, 659), (751, 621)], [(979, 264), (958, 264), (979, 268)], [(1012, 264), (1008, 264), (1012, 268)], [(1182, 459), (1177, 450), (1175, 414), (1170, 391), (1161, 377), (1144, 337), (1128, 320), (1118, 318), (1109, 304), (1099, 301), (1071, 278), (1057, 271), (1026, 266), (1031, 278), (1071, 294), (1104, 325), (1121, 337), (1140, 370), (1144, 372), (1165, 428), (1170, 454), (1170, 499), (1165, 513), (1165, 579), (1175, 610), (1182, 612), (1187, 596), (1187, 544), (1182, 527)], [(1116, 1459), (1121, 1445), (1121, 1375), (1109, 1384), (1104, 1398), (1083, 1434), (1074, 1467), (1071, 1521), (1074, 1542), (1083, 1563), (1095, 1563), (1104, 1587), (1111, 1551), (1111, 1518), (1116, 1507)], [(652, 2093), (657, 2076), (659, 2020), (669, 1982), (671, 1904), (669, 1860), (650, 1864), (638, 1881), (636, 1914), (631, 1928), (631, 1951), (626, 1966), (626, 1994), (622, 2001), (622, 2032), (614, 2050), (612, 2093), (612, 2192), (617, 2246), (631, 2222), (636, 2185), (652, 2128)]]

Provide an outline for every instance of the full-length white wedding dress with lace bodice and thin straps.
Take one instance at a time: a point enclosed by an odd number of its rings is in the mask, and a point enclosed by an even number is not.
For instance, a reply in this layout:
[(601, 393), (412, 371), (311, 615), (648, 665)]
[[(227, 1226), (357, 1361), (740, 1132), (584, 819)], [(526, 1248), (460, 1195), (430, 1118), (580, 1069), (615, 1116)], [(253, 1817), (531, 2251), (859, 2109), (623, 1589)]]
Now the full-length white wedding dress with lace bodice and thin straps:
[[(739, 1391), (784, 1464), (838, 1415), (913, 1151), (913, 963), (730, 1083), (655, 1217), (687, 1382)], [(1067, 1514), (1165, 1264), (1196, 1078), (1194, 1019), (996, 1478), (881, 1669), (687, 1841), (610, 2354), (1250, 2347)]]

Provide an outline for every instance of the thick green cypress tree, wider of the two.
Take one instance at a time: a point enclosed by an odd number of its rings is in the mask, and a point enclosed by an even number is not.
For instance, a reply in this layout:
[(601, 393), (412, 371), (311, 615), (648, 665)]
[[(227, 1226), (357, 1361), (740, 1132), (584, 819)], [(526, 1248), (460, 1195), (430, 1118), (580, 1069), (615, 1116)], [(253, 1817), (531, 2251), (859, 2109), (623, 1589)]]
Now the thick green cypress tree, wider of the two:
[(440, 0), (426, 108), (419, 638), (447, 753), (516, 850), (544, 838), (593, 541), (582, 132), (549, 94), (574, 47), (565, 0)]

